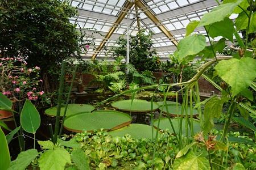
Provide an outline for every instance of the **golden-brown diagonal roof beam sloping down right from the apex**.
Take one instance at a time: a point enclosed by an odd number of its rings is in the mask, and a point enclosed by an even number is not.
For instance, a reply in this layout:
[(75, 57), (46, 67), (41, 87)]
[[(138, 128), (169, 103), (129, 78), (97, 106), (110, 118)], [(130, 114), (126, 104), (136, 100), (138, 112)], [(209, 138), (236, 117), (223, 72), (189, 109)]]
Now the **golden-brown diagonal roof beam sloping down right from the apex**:
[(172, 43), (177, 46), (178, 41), (175, 39), (175, 37), (168, 31), (166, 27), (162, 23), (160, 23), (159, 19), (156, 18), (156, 16), (151, 12), (150, 8), (146, 7), (141, 0), (135, 0), (135, 6), (138, 6), (142, 12), (144, 12), (145, 15), (147, 15), (148, 18), (152, 20), (152, 22), (155, 23), (156, 27), (160, 29), (164, 33), (164, 35), (167, 36), (169, 40), (172, 41)]

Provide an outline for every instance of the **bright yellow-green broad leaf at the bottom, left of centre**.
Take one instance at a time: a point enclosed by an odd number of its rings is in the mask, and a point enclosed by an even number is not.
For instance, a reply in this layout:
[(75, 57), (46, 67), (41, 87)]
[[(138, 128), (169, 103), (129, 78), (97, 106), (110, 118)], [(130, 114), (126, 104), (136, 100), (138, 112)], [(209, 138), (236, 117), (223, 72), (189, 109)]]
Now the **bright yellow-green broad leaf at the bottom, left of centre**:
[(71, 164), (71, 157), (64, 148), (54, 148), (43, 152), (38, 160), (40, 170), (63, 170), (65, 164)]

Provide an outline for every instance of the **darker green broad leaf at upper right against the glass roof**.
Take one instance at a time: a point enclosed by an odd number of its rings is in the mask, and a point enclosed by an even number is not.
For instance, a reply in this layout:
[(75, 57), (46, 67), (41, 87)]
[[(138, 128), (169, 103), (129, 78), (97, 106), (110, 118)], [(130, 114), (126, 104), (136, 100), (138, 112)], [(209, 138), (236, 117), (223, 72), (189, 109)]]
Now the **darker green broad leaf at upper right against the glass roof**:
[(220, 22), (216, 22), (206, 26), (210, 37), (222, 36), (233, 42), (234, 24), (231, 19), (225, 18)]

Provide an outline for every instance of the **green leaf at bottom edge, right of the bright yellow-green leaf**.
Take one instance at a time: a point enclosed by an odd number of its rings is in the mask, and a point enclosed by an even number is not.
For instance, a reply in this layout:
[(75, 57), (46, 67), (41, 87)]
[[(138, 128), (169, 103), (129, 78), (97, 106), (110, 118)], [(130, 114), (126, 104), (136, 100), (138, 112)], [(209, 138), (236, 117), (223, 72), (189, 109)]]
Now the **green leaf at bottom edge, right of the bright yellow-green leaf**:
[(81, 149), (73, 150), (71, 153), (71, 159), (75, 163), (79, 170), (89, 170), (89, 160)]

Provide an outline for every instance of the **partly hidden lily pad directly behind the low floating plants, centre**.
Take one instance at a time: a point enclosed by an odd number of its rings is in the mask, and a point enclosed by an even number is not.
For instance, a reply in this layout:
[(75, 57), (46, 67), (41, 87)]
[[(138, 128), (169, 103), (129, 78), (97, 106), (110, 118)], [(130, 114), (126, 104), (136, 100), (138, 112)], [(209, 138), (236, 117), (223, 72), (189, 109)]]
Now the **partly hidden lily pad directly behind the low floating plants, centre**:
[[(153, 131), (154, 131), (154, 138), (155, 138), (156, 129), (154, 128)], [(137, 139), (141, 139), (141, 138), (152, 139), (152, 127), (144, 124), (130, 124), (121, 129), (109, 131), (109, 134), (112, 135), (112, 137), (123, 137), (126, 134), (129, 134), (131, 135), (131, 137), (137, 138)]]

